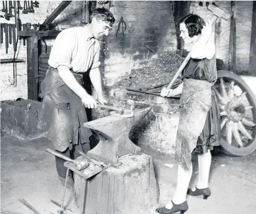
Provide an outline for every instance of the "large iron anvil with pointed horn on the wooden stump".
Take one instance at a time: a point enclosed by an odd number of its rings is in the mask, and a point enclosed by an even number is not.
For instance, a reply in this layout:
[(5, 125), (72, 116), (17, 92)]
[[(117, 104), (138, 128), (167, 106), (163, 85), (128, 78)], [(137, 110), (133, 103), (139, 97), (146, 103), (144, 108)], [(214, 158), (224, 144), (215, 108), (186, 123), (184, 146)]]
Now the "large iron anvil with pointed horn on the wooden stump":
[(128, 134), (135, 124), (149, 114), (151, 109), (152, 106), (137, 109), (134, 111), (134, 117), (129, 118), (110, 115), (85, 122), (84, 126), (94, 130), (100, 138), (97, 146), (88, 151), (87, 155), (97, 161), (116, 165), (118, 158), (122, 155), (139, 154), (140, 147), (129, 140)]

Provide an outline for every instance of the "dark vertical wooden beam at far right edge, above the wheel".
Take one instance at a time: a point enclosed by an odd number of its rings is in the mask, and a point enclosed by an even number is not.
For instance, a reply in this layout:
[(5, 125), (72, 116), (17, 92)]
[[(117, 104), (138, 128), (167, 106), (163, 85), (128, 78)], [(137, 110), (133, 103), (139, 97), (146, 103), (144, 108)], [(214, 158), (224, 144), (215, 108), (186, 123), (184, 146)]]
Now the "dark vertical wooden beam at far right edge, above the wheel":
[(252, 30), (251, 30), (251, 48), (249, 55), (249, 71), (256, 74), (256, 1), (252, 6)]

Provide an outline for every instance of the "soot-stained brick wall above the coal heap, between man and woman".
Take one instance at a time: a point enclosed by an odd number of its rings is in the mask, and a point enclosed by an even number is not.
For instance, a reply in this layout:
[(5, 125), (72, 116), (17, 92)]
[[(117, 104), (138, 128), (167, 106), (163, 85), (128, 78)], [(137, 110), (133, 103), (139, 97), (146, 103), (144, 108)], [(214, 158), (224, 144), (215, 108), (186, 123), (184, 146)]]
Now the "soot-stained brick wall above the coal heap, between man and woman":
[[(104, 46), (104, 84), (112, 86), (132, 69), (145, 66), (156, 53), (176, 49), (171, 1), (111, 1), (115, 26)], [(127, 24), (124, 39), (118, 29), (121, 17)], [(147, 48), (152, 49), (154, 53)]]

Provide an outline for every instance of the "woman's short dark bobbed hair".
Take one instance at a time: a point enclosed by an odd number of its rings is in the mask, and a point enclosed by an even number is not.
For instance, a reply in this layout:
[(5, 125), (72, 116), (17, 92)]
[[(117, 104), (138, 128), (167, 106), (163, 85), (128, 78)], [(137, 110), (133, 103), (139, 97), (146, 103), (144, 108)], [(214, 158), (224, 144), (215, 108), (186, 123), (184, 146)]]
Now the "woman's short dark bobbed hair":
[(180, 26), (181, 23), (186, 25), (190, 38), (201, 34), (203, 26), (205, 26), (205, 21), (199, 17), (199, 15), (195, 14), (186, 15), (186, 17), (178, 22), (178, 26)]

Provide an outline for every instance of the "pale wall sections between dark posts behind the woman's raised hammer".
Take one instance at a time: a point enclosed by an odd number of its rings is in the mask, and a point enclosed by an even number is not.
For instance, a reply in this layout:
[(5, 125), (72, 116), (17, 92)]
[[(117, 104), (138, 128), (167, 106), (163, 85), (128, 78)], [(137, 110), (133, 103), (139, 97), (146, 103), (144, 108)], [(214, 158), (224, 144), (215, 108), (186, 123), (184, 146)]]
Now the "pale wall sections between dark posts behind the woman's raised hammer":
[[(199, 6), (199, 1), (192, 1), (190, 12), (201, 15), (205, 20), (211, 18), (211, 11), (207, 10), (206, 1), (203, 7)], [(215, 2), (217, 7), (231, 13), (230, 1), (210, 1)], [(249, 70), (249, 54), (251, 42), (252, 24), (252, 1), (235, 1), (234, 18), (236, 18), (236, 73), (242, 74)], [(229, 38), (230, 38), (230, 19), (220, 20), (221, 33), (217, 40), (217, 58), (222, 59), (227, 65), (229, 61)], [(254, 71), (256, 75), (256, 71)]]

